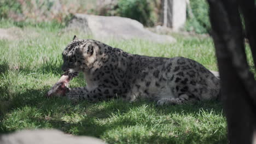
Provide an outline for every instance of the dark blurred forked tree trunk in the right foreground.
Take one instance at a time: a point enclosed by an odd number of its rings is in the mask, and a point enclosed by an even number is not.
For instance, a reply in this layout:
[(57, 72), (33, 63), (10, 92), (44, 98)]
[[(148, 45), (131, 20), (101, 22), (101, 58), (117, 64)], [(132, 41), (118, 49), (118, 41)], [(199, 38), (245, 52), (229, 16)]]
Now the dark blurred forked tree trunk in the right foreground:
[(256, 133), (256, 85), (246, 59), (239, 9), (245, 17), (246, 32), (255, 63), (254, 0), (208, 0), (208, 3), (222, 100), (228, 121), (228, 139), (230, 143), (253, 143), (253, 134)]

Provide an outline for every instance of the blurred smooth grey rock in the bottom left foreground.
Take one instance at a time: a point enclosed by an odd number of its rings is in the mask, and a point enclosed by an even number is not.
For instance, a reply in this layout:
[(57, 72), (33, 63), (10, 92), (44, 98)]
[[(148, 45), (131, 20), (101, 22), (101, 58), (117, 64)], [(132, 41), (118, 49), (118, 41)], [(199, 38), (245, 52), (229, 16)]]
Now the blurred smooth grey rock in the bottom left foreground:
[(100, 139), (89, 136), (73, 136), (59, 130), (21, 130), (0, 137), (1, 144), (102, 144)]

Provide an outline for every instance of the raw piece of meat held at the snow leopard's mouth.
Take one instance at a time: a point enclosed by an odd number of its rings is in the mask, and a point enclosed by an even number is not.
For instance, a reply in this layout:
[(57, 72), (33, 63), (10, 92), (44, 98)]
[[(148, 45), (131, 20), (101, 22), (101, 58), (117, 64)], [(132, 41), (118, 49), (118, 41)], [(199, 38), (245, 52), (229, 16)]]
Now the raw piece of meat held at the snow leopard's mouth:
[(71, 76), (68, 76), (67, 73), (63, 74), (59, 81), (55, 83), (55, 85), (50, 89), (50, 91), (46, 94), (46, 97), (53, 96), (65, 96), (68, 91), (68, 83), (72, 79)]

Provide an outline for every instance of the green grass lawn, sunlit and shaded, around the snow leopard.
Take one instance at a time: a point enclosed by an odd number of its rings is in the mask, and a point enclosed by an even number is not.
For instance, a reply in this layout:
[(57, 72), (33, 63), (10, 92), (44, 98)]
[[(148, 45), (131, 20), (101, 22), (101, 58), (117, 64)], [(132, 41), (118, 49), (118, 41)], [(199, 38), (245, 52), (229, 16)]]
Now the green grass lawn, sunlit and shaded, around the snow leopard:
[[(74, 34), (84, 39), (92, 37), (82, 32), (65, 32), (51, 23), (26, 26), (0, 21), (0, 28), (17, 25), (26, 34), (15, 41), (0, 40), (0, 133), (56, 128), (68, 134), (95, 136), (108, 143), (227, 143), (223, 108), (217, 101), (159, 107), (149, 101), (73, 104), (65, 98), (45, 98), (62, 74), (61, 52)], [(103, 42), (139, 55), (188, 57), (217, 70), (210, 38), (179, 34), (174, 37), (175, 44), (143, 40)], [(71, 81), (71, 87), (85, 85), (81, 74)]]

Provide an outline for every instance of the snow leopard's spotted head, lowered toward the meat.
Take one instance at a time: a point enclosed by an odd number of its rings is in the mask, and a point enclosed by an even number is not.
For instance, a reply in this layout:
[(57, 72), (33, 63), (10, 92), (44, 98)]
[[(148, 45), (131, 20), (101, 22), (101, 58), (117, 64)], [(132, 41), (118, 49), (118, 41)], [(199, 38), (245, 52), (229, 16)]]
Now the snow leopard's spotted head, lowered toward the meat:
[(96, 61), (99, 51), (99, 45), (96, 44), (95, 40), (78, 39), (74, 36), (62, 53), (63, 65), (61, 69), (69, 74), (89, 70)]

